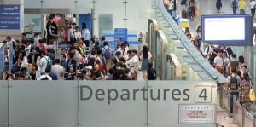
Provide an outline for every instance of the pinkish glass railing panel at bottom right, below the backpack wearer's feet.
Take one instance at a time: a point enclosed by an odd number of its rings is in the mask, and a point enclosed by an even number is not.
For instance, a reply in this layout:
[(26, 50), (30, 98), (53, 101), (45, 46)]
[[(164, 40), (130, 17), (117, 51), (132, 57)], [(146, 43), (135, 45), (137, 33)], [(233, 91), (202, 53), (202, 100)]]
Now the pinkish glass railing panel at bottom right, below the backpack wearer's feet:
[(237, 124), (239, 124), (241, 126), (242, 124), (242, 107), (241, 105), (235, 101), (235, 110), (233, 111), (233, 116), (234, 119), (236, 119)]

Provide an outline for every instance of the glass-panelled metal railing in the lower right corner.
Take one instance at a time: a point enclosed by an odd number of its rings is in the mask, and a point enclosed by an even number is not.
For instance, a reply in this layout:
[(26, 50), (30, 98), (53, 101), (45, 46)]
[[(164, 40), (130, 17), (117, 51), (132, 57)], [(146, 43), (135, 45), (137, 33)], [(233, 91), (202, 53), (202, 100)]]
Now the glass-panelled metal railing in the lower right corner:
[[(233, 107), (230, 107), (230, 89), (226, 89), (224, 85), (219, 87), (219, 105), (223, 107), (227, 113), (227, 118), (233, 118), (233, 123), (240, 127), (256, 127), (256, 114), (252, 115), (244, 106), (236, 101), (236, 95), (233, 95)], [(233, 113), (230, 113), (233, 108)]]

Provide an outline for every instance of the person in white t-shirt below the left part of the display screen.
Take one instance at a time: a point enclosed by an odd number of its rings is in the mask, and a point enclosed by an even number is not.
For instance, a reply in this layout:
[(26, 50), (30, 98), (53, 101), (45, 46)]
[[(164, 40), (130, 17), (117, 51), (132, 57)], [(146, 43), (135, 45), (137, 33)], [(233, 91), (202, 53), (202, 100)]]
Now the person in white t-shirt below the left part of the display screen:
[(214, 58), (214, 66), (217, 71), (221, 74), (224, 74), (224, 59), (222, 57), (223, 50), (218, 50), (218, 55)]

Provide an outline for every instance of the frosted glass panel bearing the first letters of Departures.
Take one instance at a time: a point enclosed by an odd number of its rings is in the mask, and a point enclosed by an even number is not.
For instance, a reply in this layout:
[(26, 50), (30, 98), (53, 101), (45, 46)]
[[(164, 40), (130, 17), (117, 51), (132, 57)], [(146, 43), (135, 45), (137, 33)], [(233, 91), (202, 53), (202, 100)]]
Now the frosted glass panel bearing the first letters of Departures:
[(139, 127), (147, 123), (147, 101), (139, 92), (143, 88), (147, 89), (145, 81), (80, 81), (79, 123), (99, 127)]

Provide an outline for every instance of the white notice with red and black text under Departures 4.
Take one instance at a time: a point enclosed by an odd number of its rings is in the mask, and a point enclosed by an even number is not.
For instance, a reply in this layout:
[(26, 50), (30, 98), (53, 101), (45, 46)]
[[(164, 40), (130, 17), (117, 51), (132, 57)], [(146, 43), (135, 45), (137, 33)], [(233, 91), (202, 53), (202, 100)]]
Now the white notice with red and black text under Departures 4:
[(214, 104), (179, 105), (179, 124), (214, 124)]

